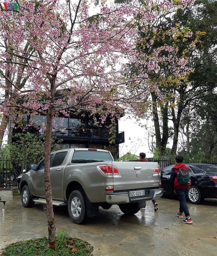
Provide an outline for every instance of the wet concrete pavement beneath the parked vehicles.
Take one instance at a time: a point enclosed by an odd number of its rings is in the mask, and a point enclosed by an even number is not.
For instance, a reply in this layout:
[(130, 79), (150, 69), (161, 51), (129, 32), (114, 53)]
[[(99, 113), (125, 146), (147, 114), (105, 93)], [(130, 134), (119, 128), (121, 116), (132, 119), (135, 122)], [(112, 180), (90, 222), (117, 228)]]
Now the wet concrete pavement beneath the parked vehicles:
[[(118, 206), (100, 207), (100, 215), (83, 225), (74, 224), (67, 208), (54, 206), (56, 234), (64, 231), (94, 246), (94, 255), (102, 256), (198, 256), (216, 255), (217, 199), (202, 205), (188, 203), (193, 224), (184, 224), (176, 216), (179, 203), (174, 198), (158, 199), (159, 210), (147, 203), (145, 210), (132, 216), (122, 214)], [(0, 203), (0, 250), (5, 245), (27, 238), (48, 235), (45, 205), (35, 203), (24, 208), (20, 197)]]

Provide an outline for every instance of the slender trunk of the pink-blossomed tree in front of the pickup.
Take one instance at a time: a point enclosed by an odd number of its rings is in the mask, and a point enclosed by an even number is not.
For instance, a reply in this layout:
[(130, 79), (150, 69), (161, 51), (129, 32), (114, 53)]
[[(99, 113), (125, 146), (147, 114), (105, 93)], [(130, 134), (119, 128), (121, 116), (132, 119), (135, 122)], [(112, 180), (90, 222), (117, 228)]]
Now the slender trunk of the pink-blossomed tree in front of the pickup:
[[(51, 85), (52, 87), (52, 85)], [(45, 198), (47, 203), (47, 218), (48, 218), (48, 235), (50, 241), (50, 249), (57, 250), (56, 237), (55, 237), (55, 224), (52, 204), (52, 190), (50, 182), (50, 147), (51, 147), (51, 132), (52, 121), (54, 115), (54, 93), (52, 93), (50, 106), (47, 112), (47, 124), (45, 134), (45, 152), (44, 152), (44, 184), (45, 184)]]

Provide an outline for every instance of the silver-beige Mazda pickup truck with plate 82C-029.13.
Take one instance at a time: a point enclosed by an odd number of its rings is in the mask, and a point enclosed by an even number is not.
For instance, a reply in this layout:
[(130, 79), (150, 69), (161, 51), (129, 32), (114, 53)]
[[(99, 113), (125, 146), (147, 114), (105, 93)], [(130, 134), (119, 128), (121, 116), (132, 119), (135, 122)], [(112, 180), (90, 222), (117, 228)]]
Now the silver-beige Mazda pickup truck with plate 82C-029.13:
[[(53, 205), (68, 206), (74, 223), (99, 214), (99, 206), (118, 205), (132, 215), (145, 201), (161, 197), (160, 167), (156, 162), (114, 162), (112, 154), (99, 149), (66, 149), (50, 154)], [(44, 160), (32, 164), (20, 181), (24, 207), (46, 203)]]

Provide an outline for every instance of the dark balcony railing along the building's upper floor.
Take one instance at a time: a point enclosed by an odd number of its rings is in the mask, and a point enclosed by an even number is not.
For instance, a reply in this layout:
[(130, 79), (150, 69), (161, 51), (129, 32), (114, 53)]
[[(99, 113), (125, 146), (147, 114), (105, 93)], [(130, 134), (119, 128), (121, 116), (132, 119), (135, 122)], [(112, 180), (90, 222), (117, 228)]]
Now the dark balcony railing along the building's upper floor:
[[(39, 127), (40, 128), (40, 127)], [(29, 126), (27, 129), (20, 127), (14, 128), (13, 133), (33, 133), (42, 134), (43, 130), (36, 129), (35, 127)], [(73, 138), (101, 138), (109, 139), (112, 134), (108, 130), (103, 129), (86, 129), (86, 128), (68, 128), (68, 127), (55, 127), (52, 129), (52, 135), (56, 137), (73, 137)], [(114, 139), (124, 142), (124, 132), (115, 131)]]

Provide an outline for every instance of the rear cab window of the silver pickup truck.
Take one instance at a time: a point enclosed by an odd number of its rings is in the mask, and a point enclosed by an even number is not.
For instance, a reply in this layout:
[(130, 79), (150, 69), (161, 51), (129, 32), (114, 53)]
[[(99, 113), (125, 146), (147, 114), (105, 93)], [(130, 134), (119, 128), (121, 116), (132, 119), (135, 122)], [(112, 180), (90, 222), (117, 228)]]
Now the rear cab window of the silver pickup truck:
[(113, 161), (109, 152), (103, 151), (74, 151), (72, 163), (93, 163)]

